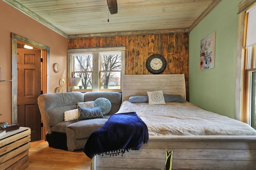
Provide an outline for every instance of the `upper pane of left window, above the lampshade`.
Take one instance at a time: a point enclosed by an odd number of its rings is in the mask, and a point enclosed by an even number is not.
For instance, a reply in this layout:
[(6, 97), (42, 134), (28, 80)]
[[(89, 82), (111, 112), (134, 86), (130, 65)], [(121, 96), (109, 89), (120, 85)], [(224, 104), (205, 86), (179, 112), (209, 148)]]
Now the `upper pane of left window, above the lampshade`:
[(74, 56), (74, 71), (92, 71), (92, 54), (76, 54)]

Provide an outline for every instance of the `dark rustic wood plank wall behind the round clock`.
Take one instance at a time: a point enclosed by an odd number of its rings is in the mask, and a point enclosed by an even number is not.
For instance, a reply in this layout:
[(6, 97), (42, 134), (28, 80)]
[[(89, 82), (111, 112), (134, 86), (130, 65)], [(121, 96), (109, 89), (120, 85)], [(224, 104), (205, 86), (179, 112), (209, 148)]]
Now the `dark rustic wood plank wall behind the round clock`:
[(167, 61), (162, 74), (185, 74), (186, 96), (188, 84), (188, 33), (121, 35), (70, 39), (68, 49), (125, 46), (125, 74), (151, 74), (146, 60), (152, 54), (163, 55)]

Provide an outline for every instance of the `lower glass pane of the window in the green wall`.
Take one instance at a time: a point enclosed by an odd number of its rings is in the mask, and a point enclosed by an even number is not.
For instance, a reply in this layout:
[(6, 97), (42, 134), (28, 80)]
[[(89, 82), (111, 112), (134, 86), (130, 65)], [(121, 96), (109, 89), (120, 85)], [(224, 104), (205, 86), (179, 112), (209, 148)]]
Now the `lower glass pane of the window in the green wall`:
[(256, 123), (256, 118), (255, 118), (255, 105), (256, 105), (256, 72), (251, 72), (251, 88), (250, 88), (250, 94), (251, 94), (251, 126), (256, 129), (255, 123)]

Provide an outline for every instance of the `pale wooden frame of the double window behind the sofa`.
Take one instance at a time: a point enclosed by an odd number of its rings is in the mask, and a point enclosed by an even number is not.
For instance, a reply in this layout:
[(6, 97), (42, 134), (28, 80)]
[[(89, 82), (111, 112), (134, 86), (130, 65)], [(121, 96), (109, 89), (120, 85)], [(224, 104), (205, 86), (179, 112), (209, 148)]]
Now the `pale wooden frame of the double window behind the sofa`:
[[(122, 58), (121, 58), (121, 88), (118, 90), (110, 90), (110, 89), (104, 89), (100, 90), (99, 87), (99, 82), (100, 82), (100, 57), (95, 57), (98, 53), (106, 53), (106, 52), (111, 52), (111, 51), (120, 51), (122, 53)], [(76, 53), (92, 53), (93, 55), (93, 70), (98, 70), (98, 71), (93, 71), (92, 72), (92, 90), (73, 90), (72, 91), (78, 91), (78, 92), (99, 92), (99, 91), (117, 91), (117, 92), (122, 92), (122, 82), (123, 82), (123, 77), (124, 77), (124, 72), (125, 72), (125, 47), (102, 47), (102, 48), (88, 48), (88, 49), (68, 49), (68, 78), (72, 77), (73, 74), (73, 68), (72, 66), (72, 54)], [(67, 86), (67, 91), (70, 92), (70, 87)]]

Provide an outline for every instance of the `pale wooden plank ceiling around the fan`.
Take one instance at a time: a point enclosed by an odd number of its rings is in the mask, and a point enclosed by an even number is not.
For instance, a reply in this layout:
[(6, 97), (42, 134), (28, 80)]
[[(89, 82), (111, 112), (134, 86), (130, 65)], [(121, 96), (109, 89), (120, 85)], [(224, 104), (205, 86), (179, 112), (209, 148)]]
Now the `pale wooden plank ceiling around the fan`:
[[(125, 31), (127, 34), (145, 29), (177, 31), (181, 28), (183, 32), (217, 0), (122, 0), (118, 1), (118, 14), (115, 15), (109, 14), (106, 0), (4, 1), (20, 3), (40, 16), (36, 20), (44, 25), (50, 23), (51, 29), (58, 28), (68, 36), (97, 32), (102, 35), (102, 31), (109, 36), (110, 32)], [(33, 14), (31, 16), (33, 18)]]

